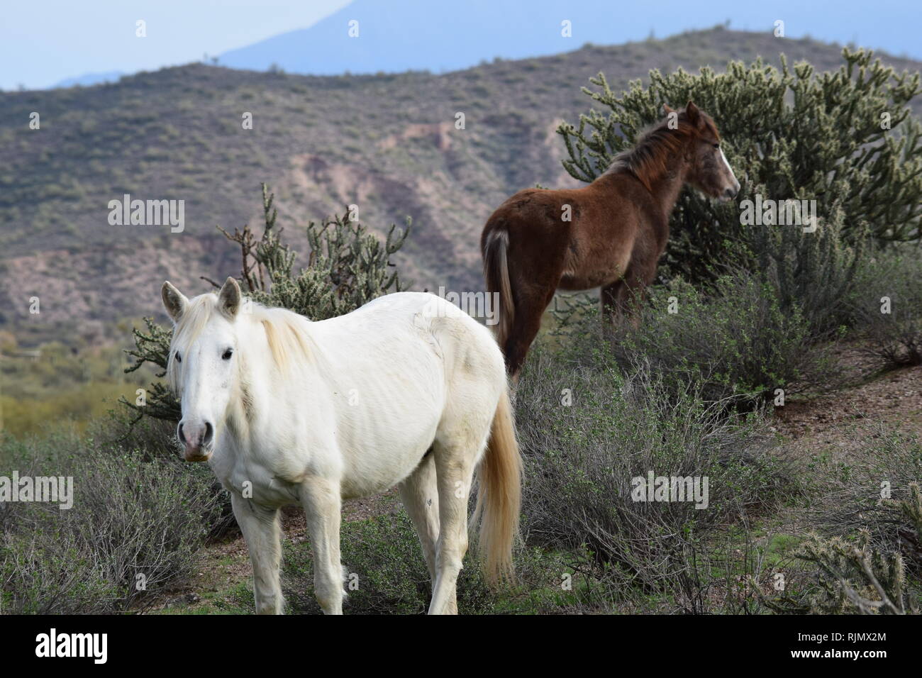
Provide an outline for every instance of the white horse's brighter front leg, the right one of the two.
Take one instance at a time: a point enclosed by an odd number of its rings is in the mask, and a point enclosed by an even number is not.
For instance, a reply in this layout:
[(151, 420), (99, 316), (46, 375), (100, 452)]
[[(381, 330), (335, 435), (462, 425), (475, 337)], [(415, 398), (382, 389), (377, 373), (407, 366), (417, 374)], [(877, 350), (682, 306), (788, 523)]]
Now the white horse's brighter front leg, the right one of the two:
[(343, 613), (343, 569), (339, 561), (339, 483), (312, 477), (301, 485), (301, 504), (313, 553), (313, 594), (326, 614)]

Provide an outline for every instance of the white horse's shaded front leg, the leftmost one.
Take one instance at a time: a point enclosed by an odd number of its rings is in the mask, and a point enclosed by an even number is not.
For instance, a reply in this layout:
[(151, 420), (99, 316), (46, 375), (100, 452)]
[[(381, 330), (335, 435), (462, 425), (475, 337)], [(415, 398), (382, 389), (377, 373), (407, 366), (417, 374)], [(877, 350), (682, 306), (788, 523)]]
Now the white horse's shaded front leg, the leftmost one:
[(259, 506), (252, 499), (231, 492), (233, 516), (243, 533), (253, 563), (253, 596), (256, 614), (281, 614), (282, 589), (278, 581), (281, 565), (278, 508)]

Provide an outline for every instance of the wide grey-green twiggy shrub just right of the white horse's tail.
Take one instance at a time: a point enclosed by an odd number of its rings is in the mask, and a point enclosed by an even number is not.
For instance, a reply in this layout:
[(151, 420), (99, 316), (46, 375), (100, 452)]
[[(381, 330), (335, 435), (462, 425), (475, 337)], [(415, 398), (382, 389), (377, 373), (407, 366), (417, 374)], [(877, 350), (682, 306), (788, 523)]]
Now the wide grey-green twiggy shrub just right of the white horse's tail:
[[(732, 557), (728, 526), (796, 487), (760, 417), (727, 418), (698, 387), (677, 394), (645, 367), (621, 375), (602, 351), (562, 351), (538, 347), (516, 392), (528, 540), (589, 553), (594, 577), (621, 601), (652, 595), (671, 610), (713, 610), (708, 591), (725, 585)], [(636, 479), (651, 472), (706, 478), (707, 506), (635, 501)]]

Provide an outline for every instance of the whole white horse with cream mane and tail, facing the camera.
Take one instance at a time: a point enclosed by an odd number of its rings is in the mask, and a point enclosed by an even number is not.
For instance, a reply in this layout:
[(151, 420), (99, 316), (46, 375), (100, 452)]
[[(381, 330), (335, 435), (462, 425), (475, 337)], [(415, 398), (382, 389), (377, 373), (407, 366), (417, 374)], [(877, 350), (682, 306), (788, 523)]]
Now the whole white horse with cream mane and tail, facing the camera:
[(512, 574), (521, 459), (502, 352), (486, 327), (419, 292), (320, 322), (242, 300), (232, 278), (219, 294), (189, 300), (170, 282), (161, 294), (179, 440), (185, 459), (207, 461), (231, 493), (257, 613), (282, 611), (280, 506), (303, 506), (314, 593), (325, 613), (342, 613), (340, 503), (395, 484), (432, 578), (429, 613), (457, 613), (478, 467), (482, 565), (491, 581)]

